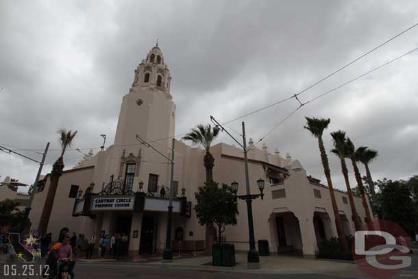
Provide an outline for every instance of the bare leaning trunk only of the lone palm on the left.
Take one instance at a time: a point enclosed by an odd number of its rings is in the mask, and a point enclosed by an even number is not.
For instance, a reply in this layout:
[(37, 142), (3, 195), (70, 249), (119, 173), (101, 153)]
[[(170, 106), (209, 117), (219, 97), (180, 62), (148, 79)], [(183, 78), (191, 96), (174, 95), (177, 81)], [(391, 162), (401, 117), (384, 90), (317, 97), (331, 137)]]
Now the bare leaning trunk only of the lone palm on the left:
[(42, 234), (45, 234), (47, 232), (49, 218), (51, 217), (53, 200), (55, 199), (55, 195), (57, 192), (58, 181), (60, 180), (60, 176), (62, 175), (62, 169), (64, 169), (64, 161), (62, 160), (61, 156), (53, 164), (51, 171), (51, 182), (49, 183), (47, 199), (45, 199), (45, 205), (42, 209), (42, 215), (40, 215), (38, 230), (40, 230)]

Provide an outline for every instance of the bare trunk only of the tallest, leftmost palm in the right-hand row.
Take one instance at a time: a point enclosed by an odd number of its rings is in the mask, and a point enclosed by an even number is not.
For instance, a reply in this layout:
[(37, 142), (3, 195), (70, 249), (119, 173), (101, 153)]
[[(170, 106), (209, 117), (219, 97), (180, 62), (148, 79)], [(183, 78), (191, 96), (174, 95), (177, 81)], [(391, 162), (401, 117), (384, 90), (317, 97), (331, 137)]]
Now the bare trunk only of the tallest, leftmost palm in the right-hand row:
[(325, 147), (323, 146), (322, 136), (318, 137), (318, 144), (319, 144), (319, 151), (321, 152), (323, 172), (325, 173), (325, 176), (327, 178), (328, 190), (330, 191), (332, 210), (334, 211), (334, 217), (335, 217), (336, 232), (339, 236), (341, 246), (343, 247), (343, 251), (349, 252), (347, 239), (345, 238), (345, 234), (343, 230), (343, 224), (341, 223), (339, 209), (338, 209), (338, 206), (336, 205), (334, 187), (332, 186), (332, 180), (331, 180), (330, 165), (328, 164), (328, 156), (325, 152)]

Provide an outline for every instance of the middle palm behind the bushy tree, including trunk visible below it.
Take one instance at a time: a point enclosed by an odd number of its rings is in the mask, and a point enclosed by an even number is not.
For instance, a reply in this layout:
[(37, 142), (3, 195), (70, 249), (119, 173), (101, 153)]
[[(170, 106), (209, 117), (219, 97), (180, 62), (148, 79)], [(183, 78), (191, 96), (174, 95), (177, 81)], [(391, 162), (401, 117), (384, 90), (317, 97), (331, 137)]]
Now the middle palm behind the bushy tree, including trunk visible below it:
[[(206, 183), (213, 181), (213, 167), (214, 167), (214, 158), (210, 154), (210, 145), (219, 134), (219, 128), (212, 128), (210, 124), (202, 125), (199, 124), (196, 128), (192, 129), (192, 132), (186, 134), (183, 137), (186, 141), (191, 141), (193, 145), (201, 145), (206, 150), (206, 155), (204, 156), (204, 166), (206, 169)], [(208, 223), (206, 225), (206, 254), (212, 254), (212, 244), (214, 243), (214, 238), (217, 235), (217, 230), (214, 228), (213, 223)]]

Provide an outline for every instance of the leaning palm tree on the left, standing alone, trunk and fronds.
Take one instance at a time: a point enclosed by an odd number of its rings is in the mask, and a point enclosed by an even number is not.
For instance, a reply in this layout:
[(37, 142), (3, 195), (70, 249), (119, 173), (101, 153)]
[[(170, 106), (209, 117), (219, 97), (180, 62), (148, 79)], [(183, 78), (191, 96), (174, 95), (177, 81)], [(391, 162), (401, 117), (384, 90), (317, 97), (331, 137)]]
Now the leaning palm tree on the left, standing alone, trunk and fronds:
[(47, 232), (49, 217), (51, 217), (51, 211), (53, 206), (53, 200), (58, 188), (58, 181), (62, 175), (62, 169), (64, 169), (64, 153), (67, 147), (71, 147), (73, 139), (77, 134), (77, 131), (72, 132), (71, 130), (67, 131), (66, 129), (60, 129), (57, 132), (60, 134), (59, 142), (61, 145), (61, 156), (53, 164), (51, 171), (51, 182), (49, 183), (49, 189), (47, 193), (47, 199), (45, 200), (44, 208), (42, 209), (42, 215), (40, 216), (38, 230), (45, 234)]

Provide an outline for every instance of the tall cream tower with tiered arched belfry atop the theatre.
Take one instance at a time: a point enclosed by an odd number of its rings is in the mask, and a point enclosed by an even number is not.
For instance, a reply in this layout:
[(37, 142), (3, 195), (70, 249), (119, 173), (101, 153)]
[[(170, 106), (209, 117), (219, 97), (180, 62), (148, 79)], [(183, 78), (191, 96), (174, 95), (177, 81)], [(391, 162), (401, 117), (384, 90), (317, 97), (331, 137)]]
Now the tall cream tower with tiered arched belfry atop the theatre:
[[(146, 148), (136, 140), (141, 138), (152, 142), (162, 154), (170, 155), (171, 138), (175, 129), (175, 104), (170, 94), (171, 76), (169, 67), (164, 64), (164, 56), (158, 44), (134, 70), (134, 82), (123, 96), (121, 112), (116, 128), (112, 158), (108, 175), (121, 173), (124, 167), (119, 162), (123, 154), (138, 154), (142, 149), (141, 160), (136, 170), (134, 184), (143, 181), (145, 186), (149, 174), (158, 175), (158, 184), (167, 185), (167, 160), (156, 151)], [(122, 169), (122, 172), (121, 172)]]

